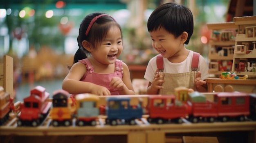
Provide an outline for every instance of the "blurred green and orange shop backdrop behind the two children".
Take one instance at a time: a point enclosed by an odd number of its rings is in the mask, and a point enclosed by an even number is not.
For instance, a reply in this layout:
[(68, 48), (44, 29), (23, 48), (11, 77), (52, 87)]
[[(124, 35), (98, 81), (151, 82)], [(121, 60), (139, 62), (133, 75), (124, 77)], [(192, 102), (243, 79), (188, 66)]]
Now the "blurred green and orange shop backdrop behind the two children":
[[(194, 16), (194, 33), (186, 48), (207, 60), (211, 31), (206, 23), (232, 21), (240, 0), (1, 0), (0, 63), (3, 55), (13, 57), (16, 100), (41, 85), (50, 93), (61, 88), (73, 62), (81, 20), (92, 12), (112, 15), (121, 25), (124, 50), (119, 59), (129, 65), (131, 79), (143, 79), (149, 59), (157, 53), (151, 45), (146, 22), (152, 11), (166, 2), (189, 7)], [(242, 0), (241, 0), (242, 1)]]

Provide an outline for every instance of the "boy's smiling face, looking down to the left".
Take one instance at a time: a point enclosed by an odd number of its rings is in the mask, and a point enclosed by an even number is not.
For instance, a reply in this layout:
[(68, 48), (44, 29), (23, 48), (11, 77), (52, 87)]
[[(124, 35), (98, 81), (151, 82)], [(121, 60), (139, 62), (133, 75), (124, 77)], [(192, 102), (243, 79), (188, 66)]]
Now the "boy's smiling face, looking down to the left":
[(173, 57), (184, 47), (181, 36), (175, 38), (173, 34), (164, 28), (151, 31), (149, 34), (152, 40), (152, 46), (165, 58)]

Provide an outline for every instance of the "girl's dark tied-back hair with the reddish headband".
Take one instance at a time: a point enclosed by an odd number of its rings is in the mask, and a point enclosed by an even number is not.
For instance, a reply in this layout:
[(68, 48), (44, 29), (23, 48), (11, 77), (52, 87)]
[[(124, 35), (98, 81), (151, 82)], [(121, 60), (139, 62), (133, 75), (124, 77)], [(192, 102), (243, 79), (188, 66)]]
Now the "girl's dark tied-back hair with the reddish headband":
[[(90, 52), (83, 48), (83, 40), (90, 42), (92, 48), (95, 49), (101, 44), (101, 41), (106, 38), (106, 35), (112, 26), (118, 26), (121, 31), (121, 26), (114, 18), (106, 13), (91, 13), (83, 18), (79, 28), (79, 35), (77, 37), (79, 49), (74, 55), (73, 64), (81, 59), (87, 58), (87, 55), (90, 55)], [(70, 69), (71, 66), (68, 66), (68, 68)]]

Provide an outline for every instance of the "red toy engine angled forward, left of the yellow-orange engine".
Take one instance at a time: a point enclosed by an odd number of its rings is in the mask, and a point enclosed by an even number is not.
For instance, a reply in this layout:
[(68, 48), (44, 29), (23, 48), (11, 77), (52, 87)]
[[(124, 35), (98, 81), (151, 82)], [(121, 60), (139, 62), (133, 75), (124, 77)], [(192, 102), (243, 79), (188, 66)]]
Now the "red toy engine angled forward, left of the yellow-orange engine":
[(18, 115), (18, 126), (38, 126), (47, 117), (52, 102), (49, 93), (42, 86), (30, 90), (30, 96), (23, 99)]

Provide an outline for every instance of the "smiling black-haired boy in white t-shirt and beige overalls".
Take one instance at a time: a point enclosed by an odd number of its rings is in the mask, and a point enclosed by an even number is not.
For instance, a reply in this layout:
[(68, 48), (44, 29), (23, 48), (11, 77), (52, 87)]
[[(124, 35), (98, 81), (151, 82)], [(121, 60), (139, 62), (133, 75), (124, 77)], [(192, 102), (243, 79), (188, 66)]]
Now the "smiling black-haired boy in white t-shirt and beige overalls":
[(150, 15), (148, 32), (159, 55), (150, 59), (146, 68), (147, 94), (173, 94), (177, 87), (207, 92), (204, 79), (209, 77), (208, 65), (200, 54), (184, 46), (193, 34), (190, 9), (181, 4), (162, 4)]

